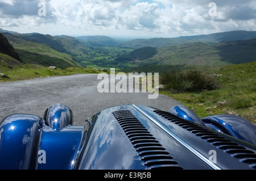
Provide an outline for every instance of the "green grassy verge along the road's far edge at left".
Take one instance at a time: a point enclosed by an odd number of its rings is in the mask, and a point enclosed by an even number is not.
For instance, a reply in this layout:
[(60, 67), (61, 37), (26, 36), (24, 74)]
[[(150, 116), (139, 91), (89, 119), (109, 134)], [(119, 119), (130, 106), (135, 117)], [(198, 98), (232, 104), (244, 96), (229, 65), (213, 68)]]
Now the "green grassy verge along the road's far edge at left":
[(52, 70), (40, 65), (26, 64), (22, 66), (16, 66), (13, 69), (0, 67), (0, 73), (6, 74), (9, 77), (0, 77), (0, 83), (71, 74), (98, 74), (101, 72), (102, 71), (100, 70), (95, 70), (92, 68), (66, 68), (64, 70)]

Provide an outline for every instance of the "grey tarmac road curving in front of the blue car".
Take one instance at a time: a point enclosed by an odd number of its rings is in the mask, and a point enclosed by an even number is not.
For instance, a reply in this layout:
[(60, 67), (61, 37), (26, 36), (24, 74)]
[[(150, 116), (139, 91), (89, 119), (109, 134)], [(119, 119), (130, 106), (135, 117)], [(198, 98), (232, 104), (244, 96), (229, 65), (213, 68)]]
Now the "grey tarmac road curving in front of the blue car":
[(145, 105), (163, 111), (180, 104), (161, 94), (157, 99), (148, 99), (150, 93), (100, 93), (97, 86), (101, 81), (97, 74), (76, 74), (0, 83), (0, 121), (13, 113), (43, 116), (56, 103), (72, 110), (74, 125), (84, 125), (87, 117), (119, 104)]

